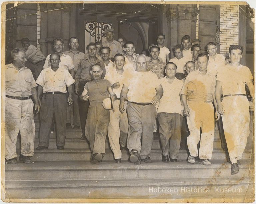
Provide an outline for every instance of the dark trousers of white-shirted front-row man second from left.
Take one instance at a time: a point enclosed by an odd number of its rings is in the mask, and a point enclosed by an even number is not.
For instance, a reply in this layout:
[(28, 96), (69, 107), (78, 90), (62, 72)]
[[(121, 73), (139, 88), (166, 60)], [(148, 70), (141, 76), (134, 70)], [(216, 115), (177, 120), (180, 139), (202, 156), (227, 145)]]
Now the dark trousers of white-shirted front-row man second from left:
[(49, 146), (52, 119), (55, 121), (56, 146), (65, 145), (66, 119), (67, 119), (66, 94), (44, 94), (41, 102), (39, 130), (39, 146)]

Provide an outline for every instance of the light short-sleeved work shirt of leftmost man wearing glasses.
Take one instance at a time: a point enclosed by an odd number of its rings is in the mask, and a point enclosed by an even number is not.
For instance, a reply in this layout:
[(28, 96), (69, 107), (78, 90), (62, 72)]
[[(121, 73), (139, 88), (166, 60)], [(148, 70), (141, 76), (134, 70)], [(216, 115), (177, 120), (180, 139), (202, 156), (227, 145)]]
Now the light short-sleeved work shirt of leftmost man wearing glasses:
[(31, 89), (37, 87), (32, 72), (22, 67), (20, 70), (13, 64), (5, 65), (5, 95), (13, 97), (31, 96)]

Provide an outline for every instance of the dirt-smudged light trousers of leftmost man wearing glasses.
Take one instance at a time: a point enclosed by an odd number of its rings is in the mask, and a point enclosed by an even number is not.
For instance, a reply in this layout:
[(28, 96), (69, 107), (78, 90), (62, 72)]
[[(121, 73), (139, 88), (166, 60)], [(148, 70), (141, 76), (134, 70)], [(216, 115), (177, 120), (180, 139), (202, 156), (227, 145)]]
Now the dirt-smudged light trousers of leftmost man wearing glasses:
[(5, 99), (5, 158), (17, 157), (17, 136), (21, 135), (21, 154), (34, 155), (35, 123), (34, 103), (31, 99)]

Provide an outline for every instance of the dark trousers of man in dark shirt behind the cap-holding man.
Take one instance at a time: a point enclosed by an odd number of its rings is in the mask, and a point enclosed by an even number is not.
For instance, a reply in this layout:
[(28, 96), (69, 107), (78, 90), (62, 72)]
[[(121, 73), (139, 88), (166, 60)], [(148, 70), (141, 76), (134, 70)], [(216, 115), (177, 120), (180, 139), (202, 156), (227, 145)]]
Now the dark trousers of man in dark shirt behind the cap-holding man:
[[(84, 91), (84, 86), (86, 83), (87, 82), (80, 83), (78, 96), (82, 95), (82, 93)], [(89, 105), (90, 105), (89, 101), (83, 101), (81, 99), (78, 99), (79, 116), (80, 116), (80, 122), (81, 122), (83, 136), (85, 136), (85, 124), (86, 124)]]

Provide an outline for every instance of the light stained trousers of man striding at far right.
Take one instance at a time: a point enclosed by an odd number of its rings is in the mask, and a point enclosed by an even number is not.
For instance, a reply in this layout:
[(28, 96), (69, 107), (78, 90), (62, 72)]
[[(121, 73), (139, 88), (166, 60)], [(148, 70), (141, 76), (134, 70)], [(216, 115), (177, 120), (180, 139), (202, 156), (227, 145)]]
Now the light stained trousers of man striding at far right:
[(245, 96), (224, 97), (222, 115), (230, 160), (241, 159), (250, 134), (249, 102)]

